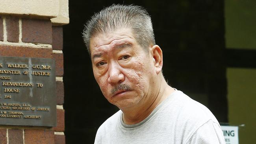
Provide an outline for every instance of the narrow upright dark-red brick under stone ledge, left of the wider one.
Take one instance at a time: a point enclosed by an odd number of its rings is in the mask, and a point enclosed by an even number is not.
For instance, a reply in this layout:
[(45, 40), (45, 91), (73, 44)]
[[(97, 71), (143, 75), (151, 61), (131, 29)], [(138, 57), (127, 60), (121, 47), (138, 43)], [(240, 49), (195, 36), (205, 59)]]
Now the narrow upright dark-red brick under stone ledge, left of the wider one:
[(19, 18), (6, 17), (7, 41), (19, 42)]

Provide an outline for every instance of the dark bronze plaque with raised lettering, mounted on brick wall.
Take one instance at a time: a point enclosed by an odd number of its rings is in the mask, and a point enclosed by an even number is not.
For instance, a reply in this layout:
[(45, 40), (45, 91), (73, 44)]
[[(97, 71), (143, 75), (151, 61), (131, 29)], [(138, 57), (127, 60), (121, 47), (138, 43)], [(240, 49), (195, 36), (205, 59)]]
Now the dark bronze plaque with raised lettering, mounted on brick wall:
[(53, 59), (0, 56), (0, 125), (56, 126)]

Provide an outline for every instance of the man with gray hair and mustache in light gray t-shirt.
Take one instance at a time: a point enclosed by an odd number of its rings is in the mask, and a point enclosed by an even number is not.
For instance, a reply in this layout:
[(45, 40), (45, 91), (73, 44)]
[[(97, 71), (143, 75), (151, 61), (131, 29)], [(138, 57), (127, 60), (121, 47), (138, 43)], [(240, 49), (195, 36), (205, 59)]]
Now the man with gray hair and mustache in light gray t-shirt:
[(102, 93), (120, 109), (99, 127), (95, 144), (224, 144), (213, 114), (165, 82), (145, 9), (106, 7), (87, 22), (83, 39)]

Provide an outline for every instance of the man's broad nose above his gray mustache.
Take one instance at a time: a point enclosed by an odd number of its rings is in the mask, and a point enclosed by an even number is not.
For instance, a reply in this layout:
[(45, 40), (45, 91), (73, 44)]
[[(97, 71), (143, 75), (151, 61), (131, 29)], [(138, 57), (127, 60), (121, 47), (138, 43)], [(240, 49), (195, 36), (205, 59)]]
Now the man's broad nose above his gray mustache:
[(111, 85), (122, 83), (125, 79), (124, 74), (121, 72), (121, 66), (118, 63), (115, 63), (115, 62), (109, 63), (108, 72), (109, 72), (108, 83)]

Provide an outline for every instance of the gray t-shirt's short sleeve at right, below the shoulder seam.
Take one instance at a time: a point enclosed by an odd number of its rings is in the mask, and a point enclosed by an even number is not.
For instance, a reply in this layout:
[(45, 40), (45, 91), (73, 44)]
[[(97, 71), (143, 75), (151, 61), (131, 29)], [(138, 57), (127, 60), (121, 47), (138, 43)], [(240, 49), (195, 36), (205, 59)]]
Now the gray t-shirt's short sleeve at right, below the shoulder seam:
[(186, 144), (226, 144), (221, 127), (209, 120), (192, 135)]

